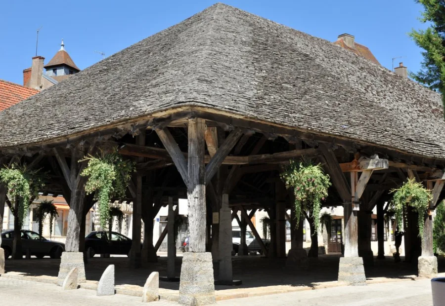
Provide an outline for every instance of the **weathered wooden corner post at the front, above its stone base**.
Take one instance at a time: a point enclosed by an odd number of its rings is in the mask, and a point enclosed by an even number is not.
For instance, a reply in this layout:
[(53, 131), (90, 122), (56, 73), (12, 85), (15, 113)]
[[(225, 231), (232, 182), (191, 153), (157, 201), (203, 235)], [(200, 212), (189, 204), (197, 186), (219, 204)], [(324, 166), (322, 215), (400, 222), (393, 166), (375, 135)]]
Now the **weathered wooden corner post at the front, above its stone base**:
[(206, 186), (204, 164), (205, 122), (200, 118), (188, 123), (188, 222), (190, 225), (189, 252), (206, 251)]

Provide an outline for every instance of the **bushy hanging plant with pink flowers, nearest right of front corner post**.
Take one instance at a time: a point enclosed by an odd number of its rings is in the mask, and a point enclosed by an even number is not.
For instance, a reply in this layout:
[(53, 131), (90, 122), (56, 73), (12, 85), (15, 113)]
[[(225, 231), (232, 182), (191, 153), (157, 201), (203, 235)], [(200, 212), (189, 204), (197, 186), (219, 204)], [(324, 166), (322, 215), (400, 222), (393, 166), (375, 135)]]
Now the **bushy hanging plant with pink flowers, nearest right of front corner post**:
[(291, 159), (280, 176), (286, 187), (294, 191), (295, 218), (300, 220), (301, 211), (309, 210), (313, 216), (313, 226), (318, 232), (321, 201), (328, 195), (331, 186), (329, 175), (323, 172), (320, 164), (315, 165), (311, 159), (303, 158), (300, 162)]

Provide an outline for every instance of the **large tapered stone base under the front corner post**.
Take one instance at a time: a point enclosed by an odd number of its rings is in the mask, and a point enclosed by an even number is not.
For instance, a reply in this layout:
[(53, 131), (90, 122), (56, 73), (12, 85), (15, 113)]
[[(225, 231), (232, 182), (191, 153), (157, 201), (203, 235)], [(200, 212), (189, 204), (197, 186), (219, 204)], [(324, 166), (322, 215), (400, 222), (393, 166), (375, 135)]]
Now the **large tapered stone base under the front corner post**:
[(212, 253), (184, 253), (178, 303), (187, 306), (215, 304), (214, 281)]

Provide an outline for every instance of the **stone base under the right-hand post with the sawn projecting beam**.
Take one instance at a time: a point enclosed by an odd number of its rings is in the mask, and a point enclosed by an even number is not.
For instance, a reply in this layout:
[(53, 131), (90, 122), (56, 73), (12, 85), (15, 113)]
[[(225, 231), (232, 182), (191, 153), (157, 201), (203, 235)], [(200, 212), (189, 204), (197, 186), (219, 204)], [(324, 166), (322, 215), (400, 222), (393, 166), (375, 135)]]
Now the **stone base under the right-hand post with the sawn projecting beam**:
[(366, 285), (363, 259), (361, 257), (340, 257), (338, 281), (348, 285)]

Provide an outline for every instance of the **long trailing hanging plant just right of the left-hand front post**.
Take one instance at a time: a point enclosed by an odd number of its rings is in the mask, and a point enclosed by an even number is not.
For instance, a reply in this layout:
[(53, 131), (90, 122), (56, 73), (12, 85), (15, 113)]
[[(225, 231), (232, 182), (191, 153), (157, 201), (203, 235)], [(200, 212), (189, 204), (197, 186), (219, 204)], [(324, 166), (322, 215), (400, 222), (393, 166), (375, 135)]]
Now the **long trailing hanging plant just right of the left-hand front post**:
[(100, 213), (100, 225), (106, 228), (110, 218), (110, 200), (112, 197), (123, 198), (131, 179), (131, 173), (135, 171), (135, 164), (125, 160), (117, 153), (101, 154), (101, 156), (89, 156), (88, 166), (82, 171), (82, 176), (88, 176), (85, 191), (88, 194), (94, 192), (94, 199), (98, 201)]

